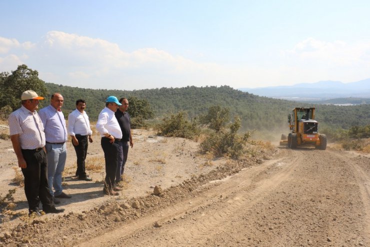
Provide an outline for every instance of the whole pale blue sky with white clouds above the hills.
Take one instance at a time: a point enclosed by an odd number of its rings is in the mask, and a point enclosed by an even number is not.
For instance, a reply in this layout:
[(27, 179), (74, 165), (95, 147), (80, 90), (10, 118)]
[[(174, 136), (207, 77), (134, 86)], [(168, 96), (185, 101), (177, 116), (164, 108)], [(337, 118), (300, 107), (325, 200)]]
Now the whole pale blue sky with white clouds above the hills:
[(370, 78), (369, 1), (0, 3), (0, 72), (94, 89)]

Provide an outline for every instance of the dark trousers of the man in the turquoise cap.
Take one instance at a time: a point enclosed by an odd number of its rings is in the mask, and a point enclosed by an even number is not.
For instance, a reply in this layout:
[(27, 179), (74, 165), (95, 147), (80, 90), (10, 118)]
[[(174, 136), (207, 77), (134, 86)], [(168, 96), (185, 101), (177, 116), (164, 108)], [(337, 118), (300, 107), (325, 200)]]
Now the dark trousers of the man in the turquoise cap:
[(119, 141), (114, 141), (113, 143), (109, 141), (109, 138), (101, 138), (101, 147), (105, 158), (105, 190), (110, 190), (115, 186), (115, 171), (118, 165)]

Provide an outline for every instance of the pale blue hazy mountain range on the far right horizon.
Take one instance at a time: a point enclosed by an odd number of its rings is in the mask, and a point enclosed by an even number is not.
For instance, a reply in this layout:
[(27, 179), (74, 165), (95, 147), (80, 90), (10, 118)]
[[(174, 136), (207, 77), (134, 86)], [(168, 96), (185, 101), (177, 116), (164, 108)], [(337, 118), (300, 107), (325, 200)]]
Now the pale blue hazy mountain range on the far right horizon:
[(239, 88), (240, 91), (259, 96), (294, 101), (323, 101), (335, 98), (370, 98), (370, 78), (358, 82), (319, 81), (292, 86), (265, 88)]

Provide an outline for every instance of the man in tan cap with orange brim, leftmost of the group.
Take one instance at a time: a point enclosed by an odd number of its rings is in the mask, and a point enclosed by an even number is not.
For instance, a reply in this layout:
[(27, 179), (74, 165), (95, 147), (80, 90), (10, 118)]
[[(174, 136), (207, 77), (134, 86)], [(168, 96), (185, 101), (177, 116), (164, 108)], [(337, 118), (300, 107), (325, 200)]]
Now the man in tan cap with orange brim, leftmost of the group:
[(23, 92), (21, 100), (22, 106), (9, 115), (8, 123), (10, 140), (24, 176), (29, 215), (41, 215), (38, 211), (40, 201), (45, 213), (63, 212), (64, 209), (55, 207), (47, 183), (45, 133), (36, 112), (38, 101), (43, 97), (27, 90)]

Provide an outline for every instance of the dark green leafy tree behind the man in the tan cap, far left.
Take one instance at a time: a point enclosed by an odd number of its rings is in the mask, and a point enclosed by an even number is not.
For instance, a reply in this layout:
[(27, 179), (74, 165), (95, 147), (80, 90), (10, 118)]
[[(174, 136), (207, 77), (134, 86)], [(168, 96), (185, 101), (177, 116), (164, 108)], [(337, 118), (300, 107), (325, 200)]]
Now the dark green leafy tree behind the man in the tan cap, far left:
[(40, 96), (47, 95), (45, 82), (38, 79), (36, 70), (31, 70), (23, 64), (11, 74), (0, 73), (0, 108), (6, 105), (13, 111), (19, 108), (20, 96), (26, 90), (33, 90)]

